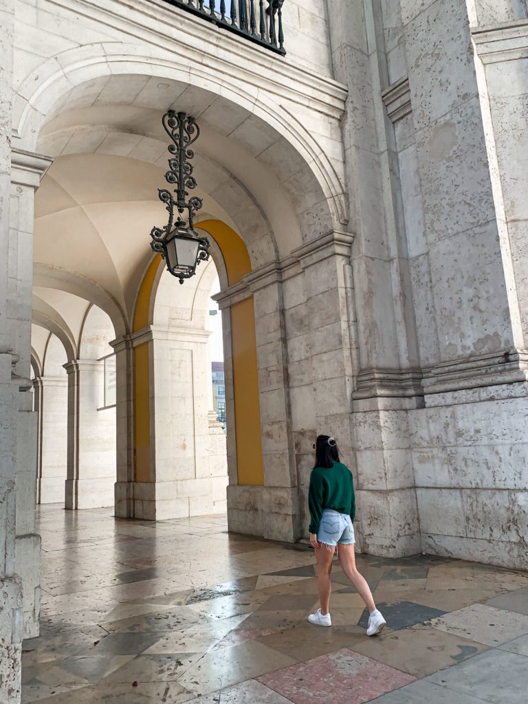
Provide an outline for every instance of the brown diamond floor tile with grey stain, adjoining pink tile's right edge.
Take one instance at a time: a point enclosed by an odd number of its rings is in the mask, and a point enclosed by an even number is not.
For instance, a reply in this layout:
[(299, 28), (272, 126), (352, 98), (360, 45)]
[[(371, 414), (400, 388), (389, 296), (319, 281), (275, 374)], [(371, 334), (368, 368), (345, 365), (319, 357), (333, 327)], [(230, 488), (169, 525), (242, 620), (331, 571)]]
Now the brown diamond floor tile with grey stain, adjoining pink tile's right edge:
[(358, 653), (418, 678), (456, 665), (487, 649), (482, 643), (473, 643), (427, 626), (389, 632), (382, 638), (369, 638), (354, 646)]

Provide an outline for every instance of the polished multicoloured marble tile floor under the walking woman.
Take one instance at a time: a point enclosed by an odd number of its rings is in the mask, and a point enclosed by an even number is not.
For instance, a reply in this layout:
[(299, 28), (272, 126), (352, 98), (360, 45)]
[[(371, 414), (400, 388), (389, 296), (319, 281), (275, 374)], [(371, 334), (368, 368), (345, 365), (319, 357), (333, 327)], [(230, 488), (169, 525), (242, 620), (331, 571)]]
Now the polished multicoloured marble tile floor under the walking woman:
[(227, 534), (224, 517), (158, 523), (39, 513), (41, 636), (23, 703), (526, 704), (528, 574), (358, 555), (389, 627), (339, 565), (332, 628), (313, 552)]

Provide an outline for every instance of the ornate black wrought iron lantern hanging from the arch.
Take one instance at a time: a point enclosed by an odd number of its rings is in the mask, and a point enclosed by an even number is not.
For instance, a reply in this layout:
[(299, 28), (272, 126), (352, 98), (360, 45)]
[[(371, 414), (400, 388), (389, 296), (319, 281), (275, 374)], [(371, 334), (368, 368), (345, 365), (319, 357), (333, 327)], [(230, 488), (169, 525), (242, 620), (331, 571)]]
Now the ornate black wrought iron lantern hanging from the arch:
[[(151, 247), (161, 253), (168, 271), (178, 279), (180, 284), (196, 273), (196, 266), (209, 258), (209, 241), (200, 237), (194, 230), (196, 212), (202, 206), (201, 198), (189, 196), (187, 189), (196, 188), (193, 176), (194, 166), (191, 159), (194, 151), (190, 149), (200, 136), (200, 128), (196, 120), (186, 113), (175, 113), (169, 110), (163, 115), (163, 127), (172, 139), (168, 151), (170, 156), (169, 170), (165, 180), (175, 186), (173, 191), (158, 189), (158, 195), (168, 210), (169, 218), (164, 227), (153, 227), (151, 230)], [(184, 213), (187, 214), (184, 215)]]

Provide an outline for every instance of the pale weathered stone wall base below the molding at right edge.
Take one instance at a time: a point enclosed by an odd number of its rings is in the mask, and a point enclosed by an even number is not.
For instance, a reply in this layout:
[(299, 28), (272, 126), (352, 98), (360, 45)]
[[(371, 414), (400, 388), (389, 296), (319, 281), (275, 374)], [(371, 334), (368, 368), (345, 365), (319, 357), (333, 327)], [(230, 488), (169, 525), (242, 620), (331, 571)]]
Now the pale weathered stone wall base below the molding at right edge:
[(422, 549), (528, 569), (528, 385), (426, 394), (409, 413)]

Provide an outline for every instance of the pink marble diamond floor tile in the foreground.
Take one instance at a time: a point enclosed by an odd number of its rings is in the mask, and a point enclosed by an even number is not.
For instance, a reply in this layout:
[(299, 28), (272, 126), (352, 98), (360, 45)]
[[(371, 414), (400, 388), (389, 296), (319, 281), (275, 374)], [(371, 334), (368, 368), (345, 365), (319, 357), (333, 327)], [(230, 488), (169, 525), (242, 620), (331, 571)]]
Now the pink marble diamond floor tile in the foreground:
[(258, 677), (294, 704), (362, 704), (415, 679), (348, 648)]

